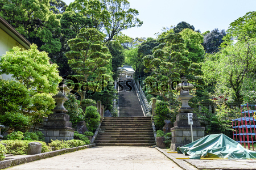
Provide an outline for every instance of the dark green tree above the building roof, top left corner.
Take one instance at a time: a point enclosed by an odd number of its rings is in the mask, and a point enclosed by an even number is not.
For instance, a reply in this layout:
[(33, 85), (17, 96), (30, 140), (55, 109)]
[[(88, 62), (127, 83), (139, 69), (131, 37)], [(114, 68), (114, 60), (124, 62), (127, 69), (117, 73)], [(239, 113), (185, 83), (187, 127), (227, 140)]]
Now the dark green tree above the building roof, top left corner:
[(0, 16), (51, 56), (61, 49), (61, 30), (59, 16), (50, 8), (49, 0), (1, 0)]

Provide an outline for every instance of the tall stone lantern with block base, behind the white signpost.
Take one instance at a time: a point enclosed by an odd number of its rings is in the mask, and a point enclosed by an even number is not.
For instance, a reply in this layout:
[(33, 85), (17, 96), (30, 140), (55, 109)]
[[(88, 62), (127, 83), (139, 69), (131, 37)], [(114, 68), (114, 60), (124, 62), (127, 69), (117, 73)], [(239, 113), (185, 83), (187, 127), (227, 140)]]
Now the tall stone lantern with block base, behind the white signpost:
[[(171, 128), (172, 151), (176, 151), (177, 147), (184, 146), (192, 142), (191, 127), (188, 125), (188, 113), (192, 113), (193, 111), (193, 108), (188, 105), (188, 101), (193, 97), (192, 95), (189, 95), (189, 90), (192, 90), (192, 88), (194, 88), (193, 84), (188, 83), (185, 77), (181, 78), (181, 83), (177, 86), (177, 89), (180, 91), (180, 95), (177, 99), (181, 101), (182, 105), (179, 109), (179, 113), (176, 115), (174, 128)], [(200, 126), (200, 121), (197, 119), (196, 114), (193, 114), (192, 127), (194, 141), (204, 137), (204, 128)]]

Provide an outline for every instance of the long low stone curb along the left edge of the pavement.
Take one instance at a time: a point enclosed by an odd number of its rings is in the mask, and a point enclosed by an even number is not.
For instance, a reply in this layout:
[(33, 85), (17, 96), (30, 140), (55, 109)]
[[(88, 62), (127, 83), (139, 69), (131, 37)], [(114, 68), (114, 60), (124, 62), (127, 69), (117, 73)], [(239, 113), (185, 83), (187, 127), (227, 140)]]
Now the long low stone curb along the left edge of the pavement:
[(75, 152), (75, 151), (79, 151), (79, 150), (83, 150), (85, 148), (91, 148), (91, 147), (95, 147), (95, 146), (96, 146), (96, 144), (93, 143), (90, 145), (84, 145), (84, 146), (72, 147), (72, 148), (64, 148), (62, 150), (44, 152), (42, 154), (36, 154), (36, 155), (31, 155), (31, 156), (25, 156), (24, 158), (3, 160), (2, 162), (0, 162), (0, 169), (5, 169), (5, 168), (13, 167), (13, 166), (16, 166), (19, 164), (33, 162), (35, 160), (51, 158), (53, 156), (62, 155), (62, 154), (69, 153), (69, 152)]

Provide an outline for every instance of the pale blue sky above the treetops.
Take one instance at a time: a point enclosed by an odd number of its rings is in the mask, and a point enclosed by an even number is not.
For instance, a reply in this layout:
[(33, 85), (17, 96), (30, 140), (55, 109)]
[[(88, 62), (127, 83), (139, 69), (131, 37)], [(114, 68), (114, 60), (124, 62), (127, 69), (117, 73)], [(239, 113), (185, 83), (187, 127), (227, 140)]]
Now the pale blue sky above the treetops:
[[(67, 5), (75, 0), (63, 0)], [(127, 36), (153, 37), (180, 22), (187, 22), (201, 33), (214, 28), (229, 28), (229, 24), (249, 11), (256, 10), (255, 0), (128, 0), (139, 11), (141, 27), (122, 31)]]

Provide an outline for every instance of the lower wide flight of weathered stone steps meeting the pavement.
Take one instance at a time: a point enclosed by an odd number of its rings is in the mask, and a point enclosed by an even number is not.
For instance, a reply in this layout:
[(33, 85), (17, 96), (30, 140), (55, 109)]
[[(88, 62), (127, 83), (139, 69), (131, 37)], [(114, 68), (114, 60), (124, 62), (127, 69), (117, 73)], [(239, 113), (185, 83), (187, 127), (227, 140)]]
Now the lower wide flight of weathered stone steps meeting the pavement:
[(96, 146), (152, 146), (151, 117), (104, 117)]

